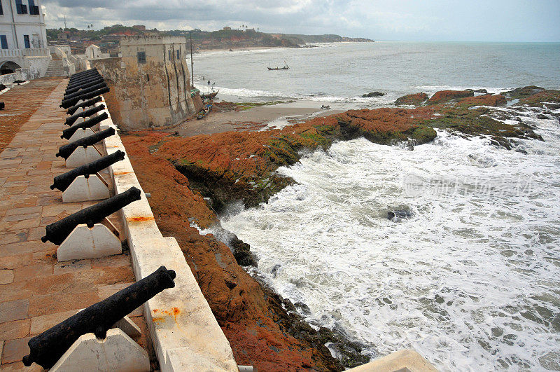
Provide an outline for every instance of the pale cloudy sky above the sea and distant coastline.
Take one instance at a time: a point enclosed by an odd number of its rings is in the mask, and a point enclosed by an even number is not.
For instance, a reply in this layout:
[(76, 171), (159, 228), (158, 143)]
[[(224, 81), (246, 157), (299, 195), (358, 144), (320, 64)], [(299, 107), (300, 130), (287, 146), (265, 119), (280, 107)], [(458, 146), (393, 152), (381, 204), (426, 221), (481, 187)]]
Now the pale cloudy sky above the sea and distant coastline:
[(43, 0), (47, 27), (340, 34), (375, 40), (560, 41), (560, 0)]

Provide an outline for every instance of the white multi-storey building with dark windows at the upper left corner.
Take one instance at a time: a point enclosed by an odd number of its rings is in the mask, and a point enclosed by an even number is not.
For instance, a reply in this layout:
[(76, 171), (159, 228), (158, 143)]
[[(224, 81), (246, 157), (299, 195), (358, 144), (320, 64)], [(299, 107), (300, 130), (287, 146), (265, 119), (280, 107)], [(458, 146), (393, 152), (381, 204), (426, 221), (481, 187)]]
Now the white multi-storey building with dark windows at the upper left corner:
[(0, 0), (0, 74), (44, 76), (51, 60), (39, 0)]

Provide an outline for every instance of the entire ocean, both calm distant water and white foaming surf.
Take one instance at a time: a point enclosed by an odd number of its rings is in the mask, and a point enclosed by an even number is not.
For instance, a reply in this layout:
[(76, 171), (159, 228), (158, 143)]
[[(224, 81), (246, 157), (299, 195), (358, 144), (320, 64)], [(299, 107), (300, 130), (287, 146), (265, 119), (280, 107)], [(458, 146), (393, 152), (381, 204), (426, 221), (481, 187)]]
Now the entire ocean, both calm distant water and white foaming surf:
[[(288, 71), (267, 71), (283, 60)], [(195, 71), (239, 99), (353, 108), (559, 89), (559, 62), (557, 43), (341, 43), (196, 55)], [(372, 90), (386, 96), (360, 97)], [(559, 371), (560, 123), (537, 114), (519, 116), (544, 142), (512, 151), (445, 131), (414, 151), (337, 142), (279, 169), (297, 184), (222, 225), (251, 244), (252, 275), (371, 357), (412, 347), (442, 371)]]

